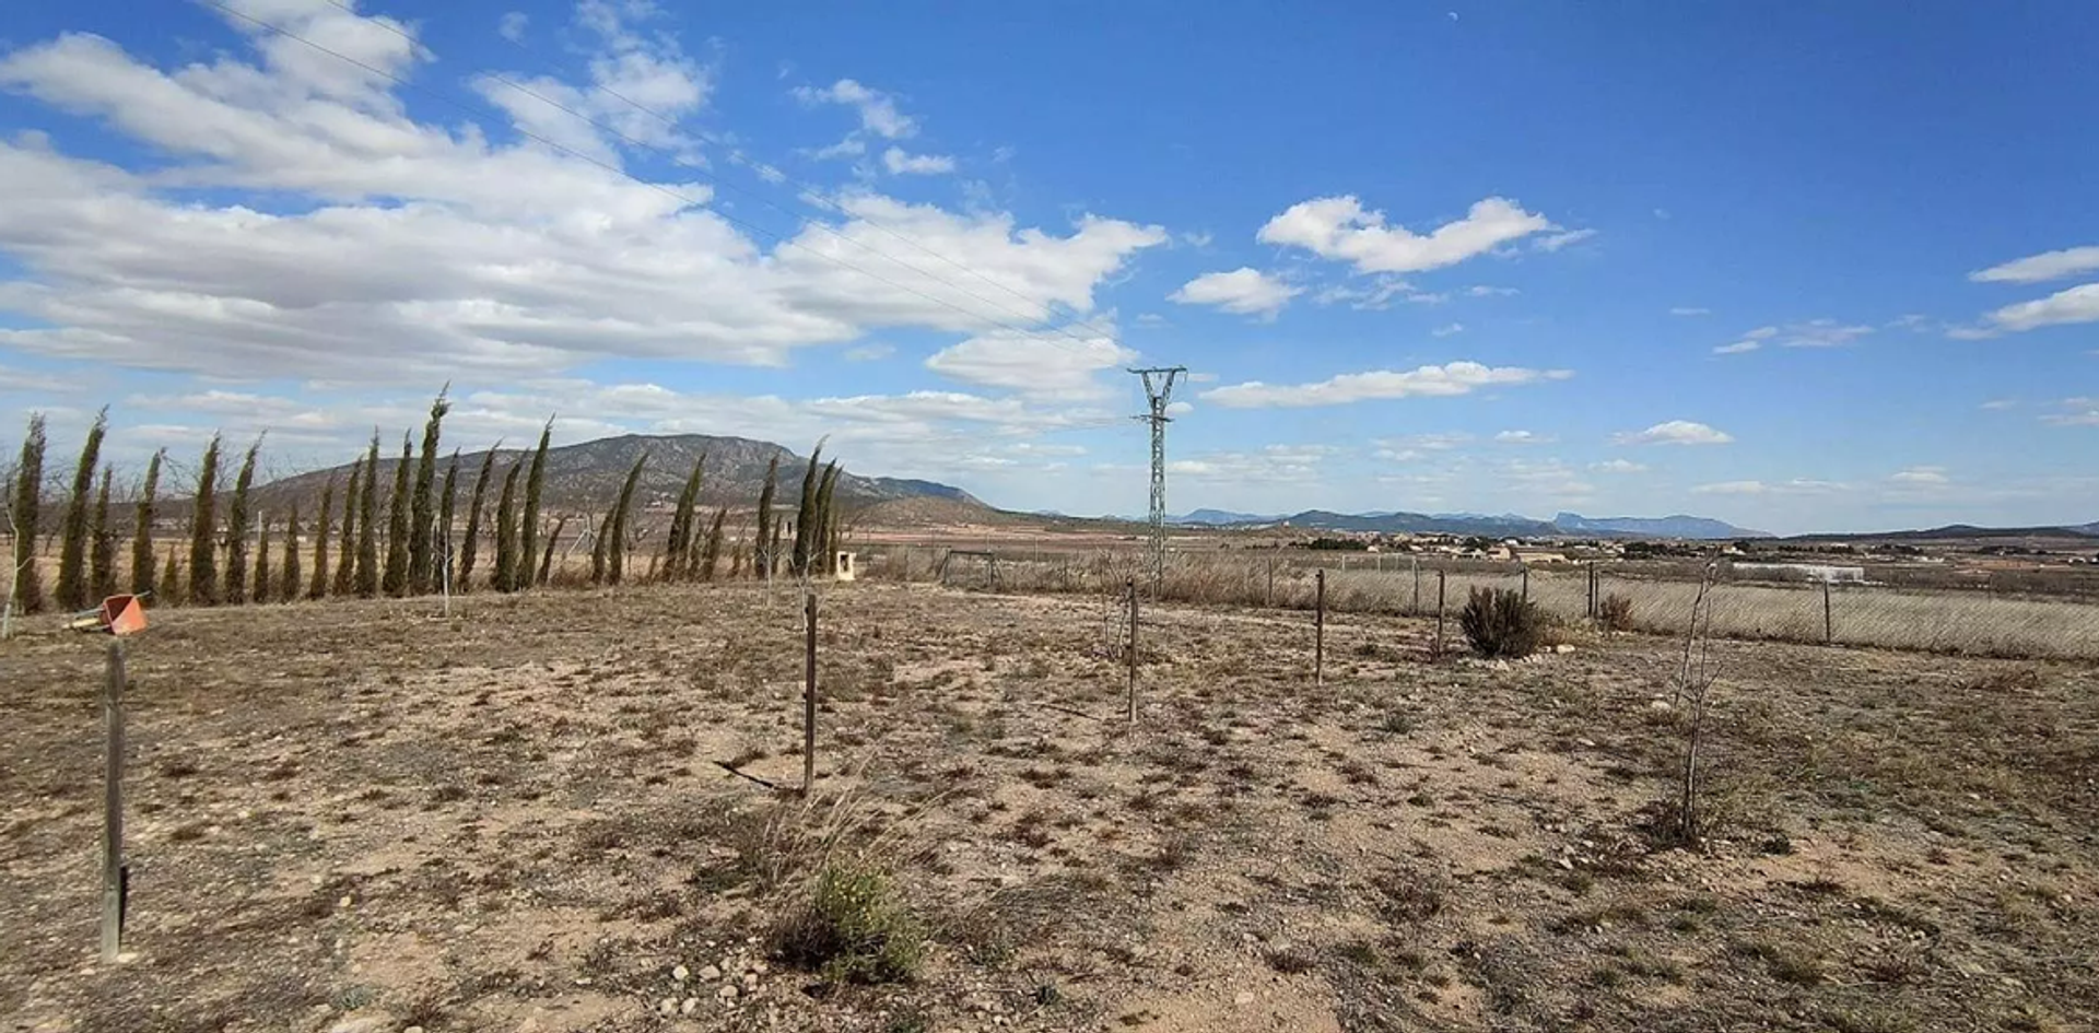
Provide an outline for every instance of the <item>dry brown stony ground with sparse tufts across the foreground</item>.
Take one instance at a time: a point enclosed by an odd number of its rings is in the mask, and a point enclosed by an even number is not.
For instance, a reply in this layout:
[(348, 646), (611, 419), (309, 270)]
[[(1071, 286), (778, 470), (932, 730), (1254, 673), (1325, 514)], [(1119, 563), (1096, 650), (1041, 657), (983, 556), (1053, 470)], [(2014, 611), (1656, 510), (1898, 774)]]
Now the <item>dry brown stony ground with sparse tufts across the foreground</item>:
[[(97, 957), (105, 640), (0, 647), (6, 1031), (2089, 1029), (2099, 666), (1719, 642), (1429, 663), (1429, 626), (835, 586), (166, 611), (130, 647), (130, 960)], [(735, 766), (739, 773), (730, 771)], [(932, 947), (770, 932), (873, 857)], [(667, 1012), (667, 1014), (665, 1014)]]

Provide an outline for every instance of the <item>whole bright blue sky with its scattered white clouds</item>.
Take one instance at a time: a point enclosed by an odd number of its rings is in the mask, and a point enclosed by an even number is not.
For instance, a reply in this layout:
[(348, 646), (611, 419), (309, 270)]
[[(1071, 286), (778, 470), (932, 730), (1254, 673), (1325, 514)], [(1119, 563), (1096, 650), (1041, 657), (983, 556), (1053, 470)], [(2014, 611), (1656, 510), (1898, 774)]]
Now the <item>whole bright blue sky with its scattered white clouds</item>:
[(1173, 510), (2084, 523), (2093, 52), (2076, 2), (15, 4), (0, 418), (296, 468), (449, 380), (466, 447), (1140, 512), (1121, 370), (1182, 363)]

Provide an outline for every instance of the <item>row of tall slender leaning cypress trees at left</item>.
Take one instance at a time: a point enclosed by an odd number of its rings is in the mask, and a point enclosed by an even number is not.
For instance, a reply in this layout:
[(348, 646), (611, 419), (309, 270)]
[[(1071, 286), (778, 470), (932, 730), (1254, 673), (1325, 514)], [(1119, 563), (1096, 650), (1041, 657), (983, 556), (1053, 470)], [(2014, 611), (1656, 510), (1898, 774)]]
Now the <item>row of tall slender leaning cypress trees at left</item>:
[[(430, 403), (420, 451), (414, 447), (411, 435), (401, 437), (401, 458), (393, 468), (384, 516), (380, 506), (378, 430), (374, 430), (365, 454), (351, 464), (351, 475), (342, 485), (340, 521), (336, 510), (336, 479), (332, 477), (321, 487), (321, 506), (311, 527), (311, 571), (302, 563), (306, 556), (306, 527), (300, 523), (296, 500), (288, 508), (281, 529), (281, 552), (275, 554), (275, 523), (262, 516), (260, 525), (254, 525), (256, 512), (250, 504), (250, 493), (254, 489), (262, 437), (256, 437), (241, 456), (231, 493), (225, 498), (222, 521), (218, 510), (222, 441), (214, 437), (206, 445), (189, 504), (187, 569), (181, 550), (168, 550), (166, 563), (155, 565), (151, 531), (157, 516), (166, 449), (155, 451), (147, 462), (139, 498), (132, 504), (130, 582), (124, 588), (139, 594), (153, 594), (162, 605), (187, 603), (204, 607), (222, 603), (288, 603), (302, 596), (325, 598), (330, 594), (363, 598), (380, 594), (409, 596), (437, 592), (441, 586), (464, 592), (472, 584), (474, 569), (483, 558), (481, 540), (485, 533), (495, 546), (493, 571), (485, 577), (489, 588), (497, 592), (523, 592), (550, 584), (560, 535), (569, 523), (563, 516), (544, 540), (539, 537), (539, 502), (546, 485), (552, 420), (539, 430), (539, 441), (531, 456), (512, 460), (508, 470), (500, 475), (493, 529), (485, 527), (485, 512), (487, 496), (497, 483), (497, 451), (491, 447), (483, 456), (466, 498), (466, 529), (458, 548), (453, 548), (451, 529), (460, 516), (458, 449), (445, 462), (441, 481), (437, 472), (443, 420), (449, 412), (451, 405), (445, 391), (441, 391)], [(118, 527), (111, 519), (113, 468), (101, 464), (105, 435), (107, 409), (88, 428), (61, 523), (59, 577), (52, 598), (67, 611), (86, 609), (120, 590)], [(36, 414), (29, 418), (29, 433), (23, 437), (21, 456), (6, 491), (6, 523), (10, 542), (15, 542), (15, 573), (6, 600), (21, 613), (44, 609), (38, 565), (29, 561), (36, 552), (34, 540), (40, 527), (44, 447), (44, 418)], [(707, 456), (701, 454), (678, 493), (665, 550), (659, 556), (651, 556), (649, 577), (661, 582), (712, 582), (724, 573), (724, 561), (728, 563), (728, 577), (741, 577), (745, 561), (749, 561), (751, 575), (791, 573), (800, 577), (831, 573), (840, 540), (840, 512), (833, 506), (840, 468), (835, 460), (819, 464), (821, 456), (823, 441), (812, 449), (808, 470), (802, 477), (789, 548), (783, 548), (787, 521), (775, 512), (779, 458), (775, 456), (768, 462), (758, 496), (756, 537), (745, 554), (741, 546), (735, 550), (724, 548), (728, 506), (716, 508), (712, 519), (699, 508), (707, 464)], [(621, 584), (630, 573), (628, 540), (634, 521), (634, 493), (646, 462), (646, 451), (634, 460), (613, 506), (596, 527), (590, 584)], [(254, 544), (254, 552), (250, 552), (250, 542)], [(220, 556), (225, 558), (222, 567)]]

